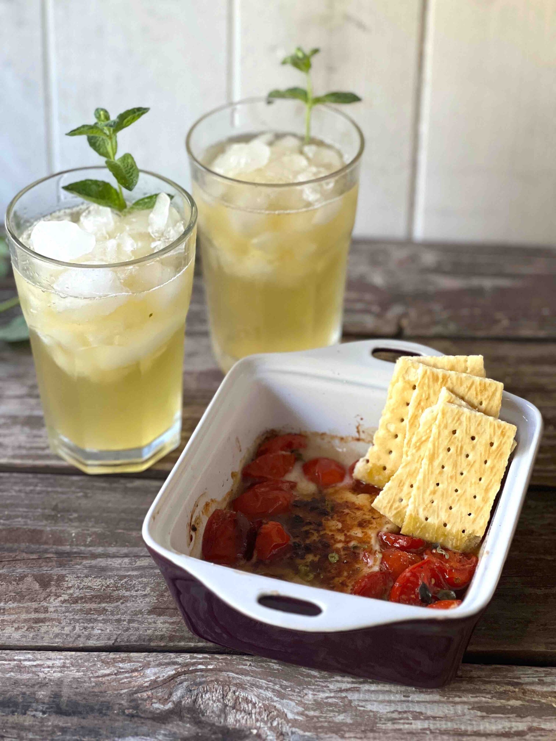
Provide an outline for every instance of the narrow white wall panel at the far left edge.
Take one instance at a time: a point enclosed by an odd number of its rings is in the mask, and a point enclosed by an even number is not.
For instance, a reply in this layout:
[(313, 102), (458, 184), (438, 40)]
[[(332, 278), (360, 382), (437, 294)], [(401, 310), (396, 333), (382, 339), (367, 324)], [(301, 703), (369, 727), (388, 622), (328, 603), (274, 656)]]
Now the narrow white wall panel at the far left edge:
[(0, 0), (0, 221), (16, 192), (47, 174), (40, 0)]

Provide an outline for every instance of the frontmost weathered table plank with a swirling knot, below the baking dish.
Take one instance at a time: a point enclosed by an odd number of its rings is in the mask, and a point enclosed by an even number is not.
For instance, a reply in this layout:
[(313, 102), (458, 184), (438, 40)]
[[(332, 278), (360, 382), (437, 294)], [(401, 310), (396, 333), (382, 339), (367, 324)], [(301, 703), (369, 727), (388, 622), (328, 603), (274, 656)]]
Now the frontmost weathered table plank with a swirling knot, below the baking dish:
[[(414, 690), (255, 657), (0, 654), (4, 738), (294, 741), (556, 734), (556, 670), (464, 666)], [(40, 720), (39, 720), (40, 719)]]

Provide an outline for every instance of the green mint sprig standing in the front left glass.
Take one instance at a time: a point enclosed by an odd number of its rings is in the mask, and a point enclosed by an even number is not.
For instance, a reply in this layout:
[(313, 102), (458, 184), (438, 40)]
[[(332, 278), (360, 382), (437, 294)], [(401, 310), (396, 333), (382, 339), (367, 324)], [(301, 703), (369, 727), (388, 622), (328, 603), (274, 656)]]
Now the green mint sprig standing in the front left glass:
[(116, 179), (118, 187), (114, 187), (105, 180), (79, 180), (70, 185), (64, 185), (63, 189), (68, 193), (75, 193), (81, 196), (85, 201), (96, 203), (99, 206), (107, 206), (116, 211), (123, 211), (127, 208), (131, 210), (140, 210), (152, 208), (156, 201), (155, 193), (153, 196), (145, 196), (133, 202), (129, 207), (125, 202), (122, 187), (125, 190), (133, 190), (139, 180), (139, 168), (130, 153), (122, 154), (116, 159), (118, 151), (117, 134), (134, 124), (141, 116), (148, 113), (148, 108), (136, 107), (129, 108), (115, 119), (110, 119), (110, 113), (106, 108), (96, 108), (95, 123), (82, 124), (81, 126), (68, 131), (66, 136), (87, 136), (87, 142), (91, 149), (105, 158), (105, 165)]

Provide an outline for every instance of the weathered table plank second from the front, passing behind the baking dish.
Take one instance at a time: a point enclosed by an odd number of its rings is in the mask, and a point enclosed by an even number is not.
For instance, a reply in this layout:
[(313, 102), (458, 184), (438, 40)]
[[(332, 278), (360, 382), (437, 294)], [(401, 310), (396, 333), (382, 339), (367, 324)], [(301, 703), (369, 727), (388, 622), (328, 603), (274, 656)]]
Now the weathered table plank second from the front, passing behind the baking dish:
[[(0, 473), (0, 645), (222, 651), (188, 633), (141, 539), (148, 479)], [(556, 664), (556, 490), (532, 488), (467, 660)]]

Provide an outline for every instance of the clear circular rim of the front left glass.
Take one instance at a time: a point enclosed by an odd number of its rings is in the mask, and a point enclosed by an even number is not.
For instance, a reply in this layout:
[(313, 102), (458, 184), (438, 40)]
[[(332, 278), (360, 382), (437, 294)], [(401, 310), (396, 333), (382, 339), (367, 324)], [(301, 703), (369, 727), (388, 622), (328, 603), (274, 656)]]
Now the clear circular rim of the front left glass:
[[(157, 175), (156, 173), (151, 173), (150, 170), (139, 170), (139, 173), (142, 173), (143, 175), (150, 175), (153, 178), (157, 178), (159, 180), (162, 180), (162, 182), (165, 182), (167, 185), (170, 185), (170, 187), (173, 187), (175, 190), (178, 191), (178, 193), (185, 198), (185, 200), (188, 202), (189, 207), (191, 208), (191, 215), (189, 217), (188, 224), (186, 225), (185, 229), (182, 231), (182, 233), (173, 240), (169, 245), (166, 245), (166, 247), (162, 247), (160, 250), (156, 250), (156, 252), (150, 253), (150, 255), (144, 255), (142, 257), (137, 257), (134, 260), (126, 260), (125, 262), (105, 262), (105, 263), (94, 263), (91, 264), (90, 262), (64, 262), (64, 260), (56, 260), (53, 257), (47, 257), (46, 255), (42, 255), (39, 252), (35, 252), (35, 250), (32, 250), (30, 247), (27, 247), (27, 245), (24, 245), (23, 242), (21, 242), (21, 239), (16, 235), (14, 232), (12, 225), (11, 225), (11, 216), (13, 213), (14, 208), (16, 207), (16, 203), (21, 199), (22, 196), (25, 195), (31, 188), (35, 187), (36, 185), (40, 185), (41, 183), (50, 180), (52, 178), (56, 178), (62, 175), (67, 175), (67, 173), (77, 173), (82, 170), (106, 170), (108, 171), (107, 167), (104, 165), (90, 165), (87, 167), (87, 165), (83, 165), (82, 167), (71, 167), (70, 170), (60, 170), (59, 173), (53, 173), (52, 175), (47, 175), (44, 178), (40, 178), (39, 180), (36, 180), (35, 182), (30, 183), (30, 185), (27, 185), (27, 187), (24, 187), (23, 190), (20, 190), (19, 193), (16, 194), (16, 196), (13, 196), (13, 199), (8, 204), (7, 210), (6, 210), (6, 218), (4, 220), (6, 231), (10, 235), (10, 239), (13, 239), (13, 242), (16, 243), (16, 245), (23, 250), (28, 255), (43, 260), (44, 262), (51, 263), (52, 265), (62, 265), (63, 268), (129, 268), (130, 265), (139, 265), (141, 262), (148, 262), (149, 260), (154, 259), (155, 257), (160, 257), (161, 255), (165, 255), (168, 252), (171, 252), (174, 250), (180, 242), (184, 242), (185, 239), (188, 238), (188, 236), (193, 231), (193, 227), (196, 224), (197, 220), (197, 206), (196, 203), (193, 201), (193, 196), (191, 196), (190, 193), (188, 193), (185, 188), (182, 188), (181, 185), (178, 185), (177, 183), (173, 182), (173, 180), (170, 180), (169, 178), (165, 178), (162, 175)], [(84, 201), (85, 203), (88, 203), (88, 201)]]

